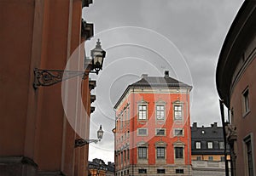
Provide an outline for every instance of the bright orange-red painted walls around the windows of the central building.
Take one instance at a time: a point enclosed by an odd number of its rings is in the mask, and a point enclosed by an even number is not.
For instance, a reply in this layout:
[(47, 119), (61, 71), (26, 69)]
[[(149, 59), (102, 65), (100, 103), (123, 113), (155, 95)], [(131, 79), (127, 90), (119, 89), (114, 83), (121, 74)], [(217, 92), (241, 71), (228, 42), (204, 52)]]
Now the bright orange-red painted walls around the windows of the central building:
[[(117, 171), (124, 167), (128, 167), (130, 164), (137, 164), (137, 142), (145, 141), (148, 142), (148, 165), (156, 164), (156, 154), (154, 144), (160, 139), (166, 142), (166, 164), (174, 164), (174, 147), (173, 143), (177, 142), (177, 140), (182, 141), (184, 145), (184, 164), (191, 165), (191, 150), (188, 148), (191, 145), (190, 138), (190, 112), (189, 112), (189, 92), (188, 94), (157, 94), (157, 93), (140, 93), (140, 94), (131, 94), (127, 93), (123, 101), (120, 102), (117, 110), (116, 116), (125, 108), (127, 104), (130, 103), (130, 122), (126, 121), (123, 124), (125, 125), (122, 129), (120, 129), (120, 121), (116, 122), (116, 133), (115, 133), (115, 150), (119, 150), (126, 143), (130, 144), (130, 161), (123, 161), (123, 166), (120, 163), (116, 163)], [(140, 124), (137, 122), (137, 102), (140, 100), (145, 100), (148, 103), (148, 124)], [(166, 123), (165, 124), (157, 124), (155, 122), (155, 102), (157, 100), (162, 100), (166, 102)], [(176, 100), (183, 102), (183, 122), (173, 122), (173, 105), (172, 103)], [(148, 136), (137, 136), (137, 128), (148, 128)], [(166, 136), (155, 136), (155, 128), (166, 128)], [(183, 128), (183, 137), (173, 136), (174, 128)], [(117, 140), (124, 136), (127, 130), (130, 129), (130, 138), (126, 138), (123, 142), (117, 143)], [(127, 154), (127, 152), (126, 152)], [(120, 161), (121, 157), (118, 156), (118, 160)]]

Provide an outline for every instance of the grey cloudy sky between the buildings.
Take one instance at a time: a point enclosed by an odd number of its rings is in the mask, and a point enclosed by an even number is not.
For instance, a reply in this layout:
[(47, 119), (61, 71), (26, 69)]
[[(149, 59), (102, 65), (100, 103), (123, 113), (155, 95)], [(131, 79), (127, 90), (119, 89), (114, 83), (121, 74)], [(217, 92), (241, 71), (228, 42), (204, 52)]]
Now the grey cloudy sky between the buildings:
[(191, 122), (220, 123), (215, 69), (218, 54), (243, 0), (95, 0), (83, 18), (95, 27), (86, 42), (86, 55), (102, 41), (107, 51), (93, 91), (96, 111), (91, 115), (90, 138), (102, 124), (102, 142), (90, 145), (90, 161), (113, 162), (114, 111), (125, 88), (143, 73), (171, 77), (193, 86)]

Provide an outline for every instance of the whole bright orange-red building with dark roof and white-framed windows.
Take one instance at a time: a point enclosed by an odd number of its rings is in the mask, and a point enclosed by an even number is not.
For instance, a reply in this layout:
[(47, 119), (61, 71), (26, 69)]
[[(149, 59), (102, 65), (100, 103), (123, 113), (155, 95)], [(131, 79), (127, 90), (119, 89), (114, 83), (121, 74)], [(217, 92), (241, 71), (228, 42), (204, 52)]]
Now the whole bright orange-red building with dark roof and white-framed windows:
[(143, 78), (114, 106), (116, 175), (191, 175), (189, 92), (169, 77)]

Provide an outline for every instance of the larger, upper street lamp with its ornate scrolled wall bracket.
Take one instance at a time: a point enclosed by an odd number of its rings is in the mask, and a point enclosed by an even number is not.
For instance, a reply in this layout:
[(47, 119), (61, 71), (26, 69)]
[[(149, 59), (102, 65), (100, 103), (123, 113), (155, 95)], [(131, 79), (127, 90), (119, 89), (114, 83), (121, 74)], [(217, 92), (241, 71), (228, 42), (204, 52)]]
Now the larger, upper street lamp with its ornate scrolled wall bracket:
[[(62, 71), (62, 70), (45, 70), (45, 69), (34, 69), (34, 83), (33, 87), (38, 88), (39, 86), (51, 86), (55, 83), (62, 82), (63, 80), (70, 79), (72, 77), (83, 76), (83, 79), (89, 75), (89, 73), (98, 74), (102, 70), (106, 51), (102, 49), (100, 39), (96, 42), (96, 48), (90, 51), (91, 60), (88, 61), (90, 65), (90, 71)], [(84, 61), (84, 62), (85, 62)]]

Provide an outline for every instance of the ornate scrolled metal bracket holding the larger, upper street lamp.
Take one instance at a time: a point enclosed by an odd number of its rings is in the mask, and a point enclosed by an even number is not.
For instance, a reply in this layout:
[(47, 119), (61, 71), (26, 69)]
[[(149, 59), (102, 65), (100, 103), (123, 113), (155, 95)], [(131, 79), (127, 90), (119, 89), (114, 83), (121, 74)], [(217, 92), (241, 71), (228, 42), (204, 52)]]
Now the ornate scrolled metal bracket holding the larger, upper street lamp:
[(61, 70), (41, 70), (36, 68), (34, 70), (33, 87), (51, 86), (55, 83), (65, 81), (72, 77), (83, 76), (83, 79), (88, 76), (85, 71), (61, 71)]

